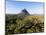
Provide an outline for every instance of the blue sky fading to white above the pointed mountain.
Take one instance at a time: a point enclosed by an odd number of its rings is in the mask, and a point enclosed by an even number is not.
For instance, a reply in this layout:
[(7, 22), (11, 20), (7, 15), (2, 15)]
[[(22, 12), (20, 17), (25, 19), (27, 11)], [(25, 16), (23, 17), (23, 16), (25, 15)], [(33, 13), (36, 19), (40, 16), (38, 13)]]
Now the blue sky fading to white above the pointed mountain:
[(43, 14), (43, 2), (6, 0), (6, 14), (19, 14), (25, 8), (29, 14)]

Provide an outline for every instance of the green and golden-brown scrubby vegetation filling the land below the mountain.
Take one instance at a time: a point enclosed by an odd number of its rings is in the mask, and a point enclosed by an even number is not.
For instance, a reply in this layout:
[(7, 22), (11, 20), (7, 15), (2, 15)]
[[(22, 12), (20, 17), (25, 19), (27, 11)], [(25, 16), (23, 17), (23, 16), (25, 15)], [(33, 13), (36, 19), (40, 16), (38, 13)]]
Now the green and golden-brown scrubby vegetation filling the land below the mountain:
[(5, 22), (7, 34), (44, 32), (42, 15), (6, 15)]

